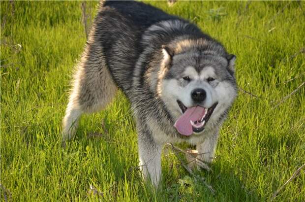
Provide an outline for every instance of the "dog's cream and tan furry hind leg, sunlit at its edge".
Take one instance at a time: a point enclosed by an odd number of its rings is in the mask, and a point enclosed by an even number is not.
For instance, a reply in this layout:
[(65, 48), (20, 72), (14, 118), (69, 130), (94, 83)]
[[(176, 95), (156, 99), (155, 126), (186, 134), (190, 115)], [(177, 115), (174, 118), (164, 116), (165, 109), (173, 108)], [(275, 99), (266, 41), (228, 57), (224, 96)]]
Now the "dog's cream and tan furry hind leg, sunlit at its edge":
[(117, 86), (106, 65), (101, 42), (95, 40), (92, 35), (76, 66), (73, 87), (63, 118), (63, 140), (69, 140), (74, 136), (83, 113), (92, 113), (105, 108), (117, 92)]

